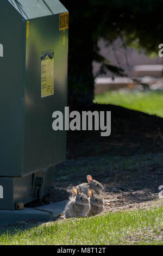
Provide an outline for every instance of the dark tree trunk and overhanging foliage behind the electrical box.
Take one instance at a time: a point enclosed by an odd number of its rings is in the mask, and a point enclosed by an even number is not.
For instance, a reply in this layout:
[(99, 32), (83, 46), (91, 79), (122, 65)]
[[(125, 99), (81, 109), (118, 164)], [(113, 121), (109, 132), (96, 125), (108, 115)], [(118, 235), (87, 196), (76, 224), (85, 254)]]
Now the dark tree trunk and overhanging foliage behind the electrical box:
[(99, 54), (98, 41), (111, 44), (122, 39), (122, 47), (157, 53), (163, 42), (163, 0), (61, 0), (70, 12), (69, 102), (91, 103), (94, 77), (92, 62), (101, 63), (99, 72), (111, 70), (123, 76), (122, 67), (112, 66)]

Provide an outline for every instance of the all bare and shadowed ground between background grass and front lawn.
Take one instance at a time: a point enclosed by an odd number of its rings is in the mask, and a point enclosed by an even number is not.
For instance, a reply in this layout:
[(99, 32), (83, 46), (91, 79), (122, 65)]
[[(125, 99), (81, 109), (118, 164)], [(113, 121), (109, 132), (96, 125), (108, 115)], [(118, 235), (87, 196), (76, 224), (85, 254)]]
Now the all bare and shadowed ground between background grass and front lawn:
[(162, 205), (162, 118), (130, 109), (94, 104), (91, 111), (111, 111), (111, 135), (100, 131), (70, 131), (67, 161), (54, 168), (56, 187), (28, 207), (65, 200), (86, 175), (102, 182), (104, 212), (148, 209)]

